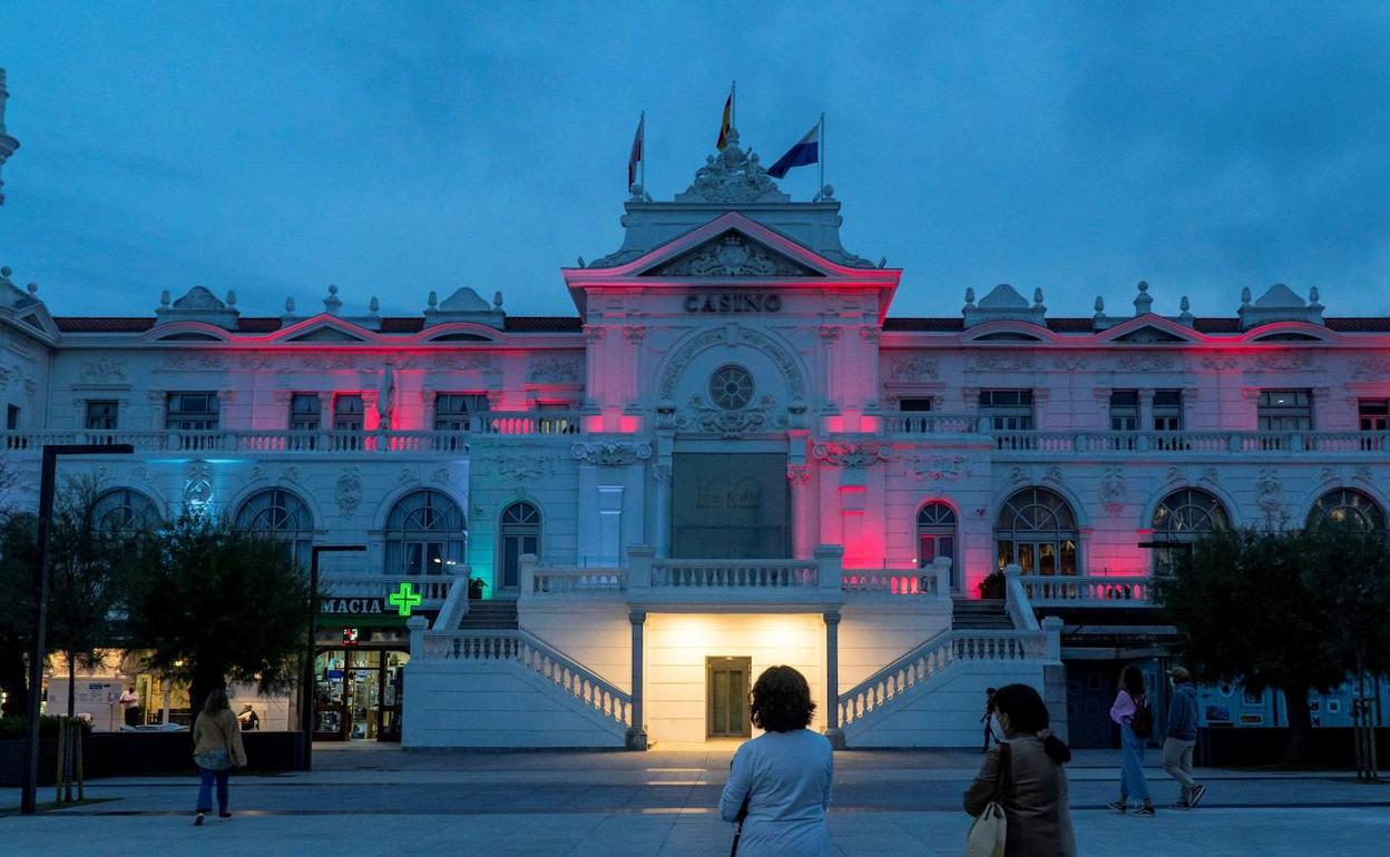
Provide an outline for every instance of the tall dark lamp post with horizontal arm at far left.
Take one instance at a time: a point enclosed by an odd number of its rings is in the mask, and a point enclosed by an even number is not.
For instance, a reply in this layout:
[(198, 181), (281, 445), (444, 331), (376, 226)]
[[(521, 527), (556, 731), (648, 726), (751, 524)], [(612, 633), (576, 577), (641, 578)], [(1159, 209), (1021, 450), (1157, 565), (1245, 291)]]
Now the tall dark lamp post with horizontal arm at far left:
[(33, 815), (39, 796), (39, 697), (43, 694), (43, 658), (49, 631), (49, 528), (53, 522), (53, 485), (58, 456), (132, 456), (129, 443), (58, 443), (43, 446), (39, 476), (39, 561), (33, 569), (33, 642), (29, 643), (29, 735), (24, 742), (24, 789), (19, 813)]

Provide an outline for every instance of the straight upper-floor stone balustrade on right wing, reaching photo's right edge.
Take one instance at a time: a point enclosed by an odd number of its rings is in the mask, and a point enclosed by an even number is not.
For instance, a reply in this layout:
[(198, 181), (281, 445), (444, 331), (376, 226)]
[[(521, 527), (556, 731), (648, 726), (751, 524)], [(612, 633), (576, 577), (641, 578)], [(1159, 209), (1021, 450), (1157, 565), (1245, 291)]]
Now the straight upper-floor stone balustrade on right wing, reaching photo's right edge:
[(1390, 453), (1384, 432), (987, 432), (998, 450), (1045, 454)]

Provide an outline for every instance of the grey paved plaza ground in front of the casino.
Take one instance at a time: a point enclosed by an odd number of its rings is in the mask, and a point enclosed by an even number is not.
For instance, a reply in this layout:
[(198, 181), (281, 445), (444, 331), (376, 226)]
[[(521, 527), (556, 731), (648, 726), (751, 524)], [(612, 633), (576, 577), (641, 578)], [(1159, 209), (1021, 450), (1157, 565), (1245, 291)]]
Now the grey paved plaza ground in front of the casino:
[[(316, 769), (232, 779), (228, 822), (192, 826), (192, 778), (96, 781), (110, 799), (25, 818), (0, 815), (0, 854), (477, 854), (584, 856), (728, 853), (714, 813), (735, 744), (649, 753), (406, 753), (324, 746)], [(1150, 751), (1162, 807), (1176, 785)], [(969, 818), (960, 792), (979, 767), (963, 750), (848, 751), (835, 756), (830, 832), (835, 854), (962, 854)], [(1200, 771), (1201, 808), (1122, 817), (1118, 754), (1079, 751), (1069, 765), (1081, 854), (1390, 853), (1390, 785), (1348, 774)], [(40, 800), (51, 799), (51, 789)], [(18, 806), (0, 789), (0, 811)]]

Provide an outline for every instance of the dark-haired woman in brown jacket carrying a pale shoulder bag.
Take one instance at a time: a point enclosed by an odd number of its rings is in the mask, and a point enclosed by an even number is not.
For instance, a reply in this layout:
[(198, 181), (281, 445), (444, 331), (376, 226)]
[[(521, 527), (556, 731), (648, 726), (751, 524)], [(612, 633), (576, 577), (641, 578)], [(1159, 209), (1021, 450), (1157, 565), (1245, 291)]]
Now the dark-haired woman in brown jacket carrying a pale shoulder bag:
[(1066, 771), (1072, 750), (1048, 729), (1038, 692), (1006, 685), (994, 694), (1004, 743), (992, 747), (965, 792), (976, 817), (966, 842), (970, 857), (1073, 857)]

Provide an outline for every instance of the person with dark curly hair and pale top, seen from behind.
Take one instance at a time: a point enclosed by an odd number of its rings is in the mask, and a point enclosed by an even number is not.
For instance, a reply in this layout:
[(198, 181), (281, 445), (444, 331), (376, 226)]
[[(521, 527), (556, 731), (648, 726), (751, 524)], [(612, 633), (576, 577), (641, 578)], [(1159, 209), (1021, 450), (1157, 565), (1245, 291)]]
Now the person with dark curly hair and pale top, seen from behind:
[(764, 735), (734, 753), (719, 815), (737, 822), (739, 857), (828, 857), (826, 807), (834, 753), (812, 732), (806, 678), (791, 667), (769, 667), (753, 685), (753, 725)]

